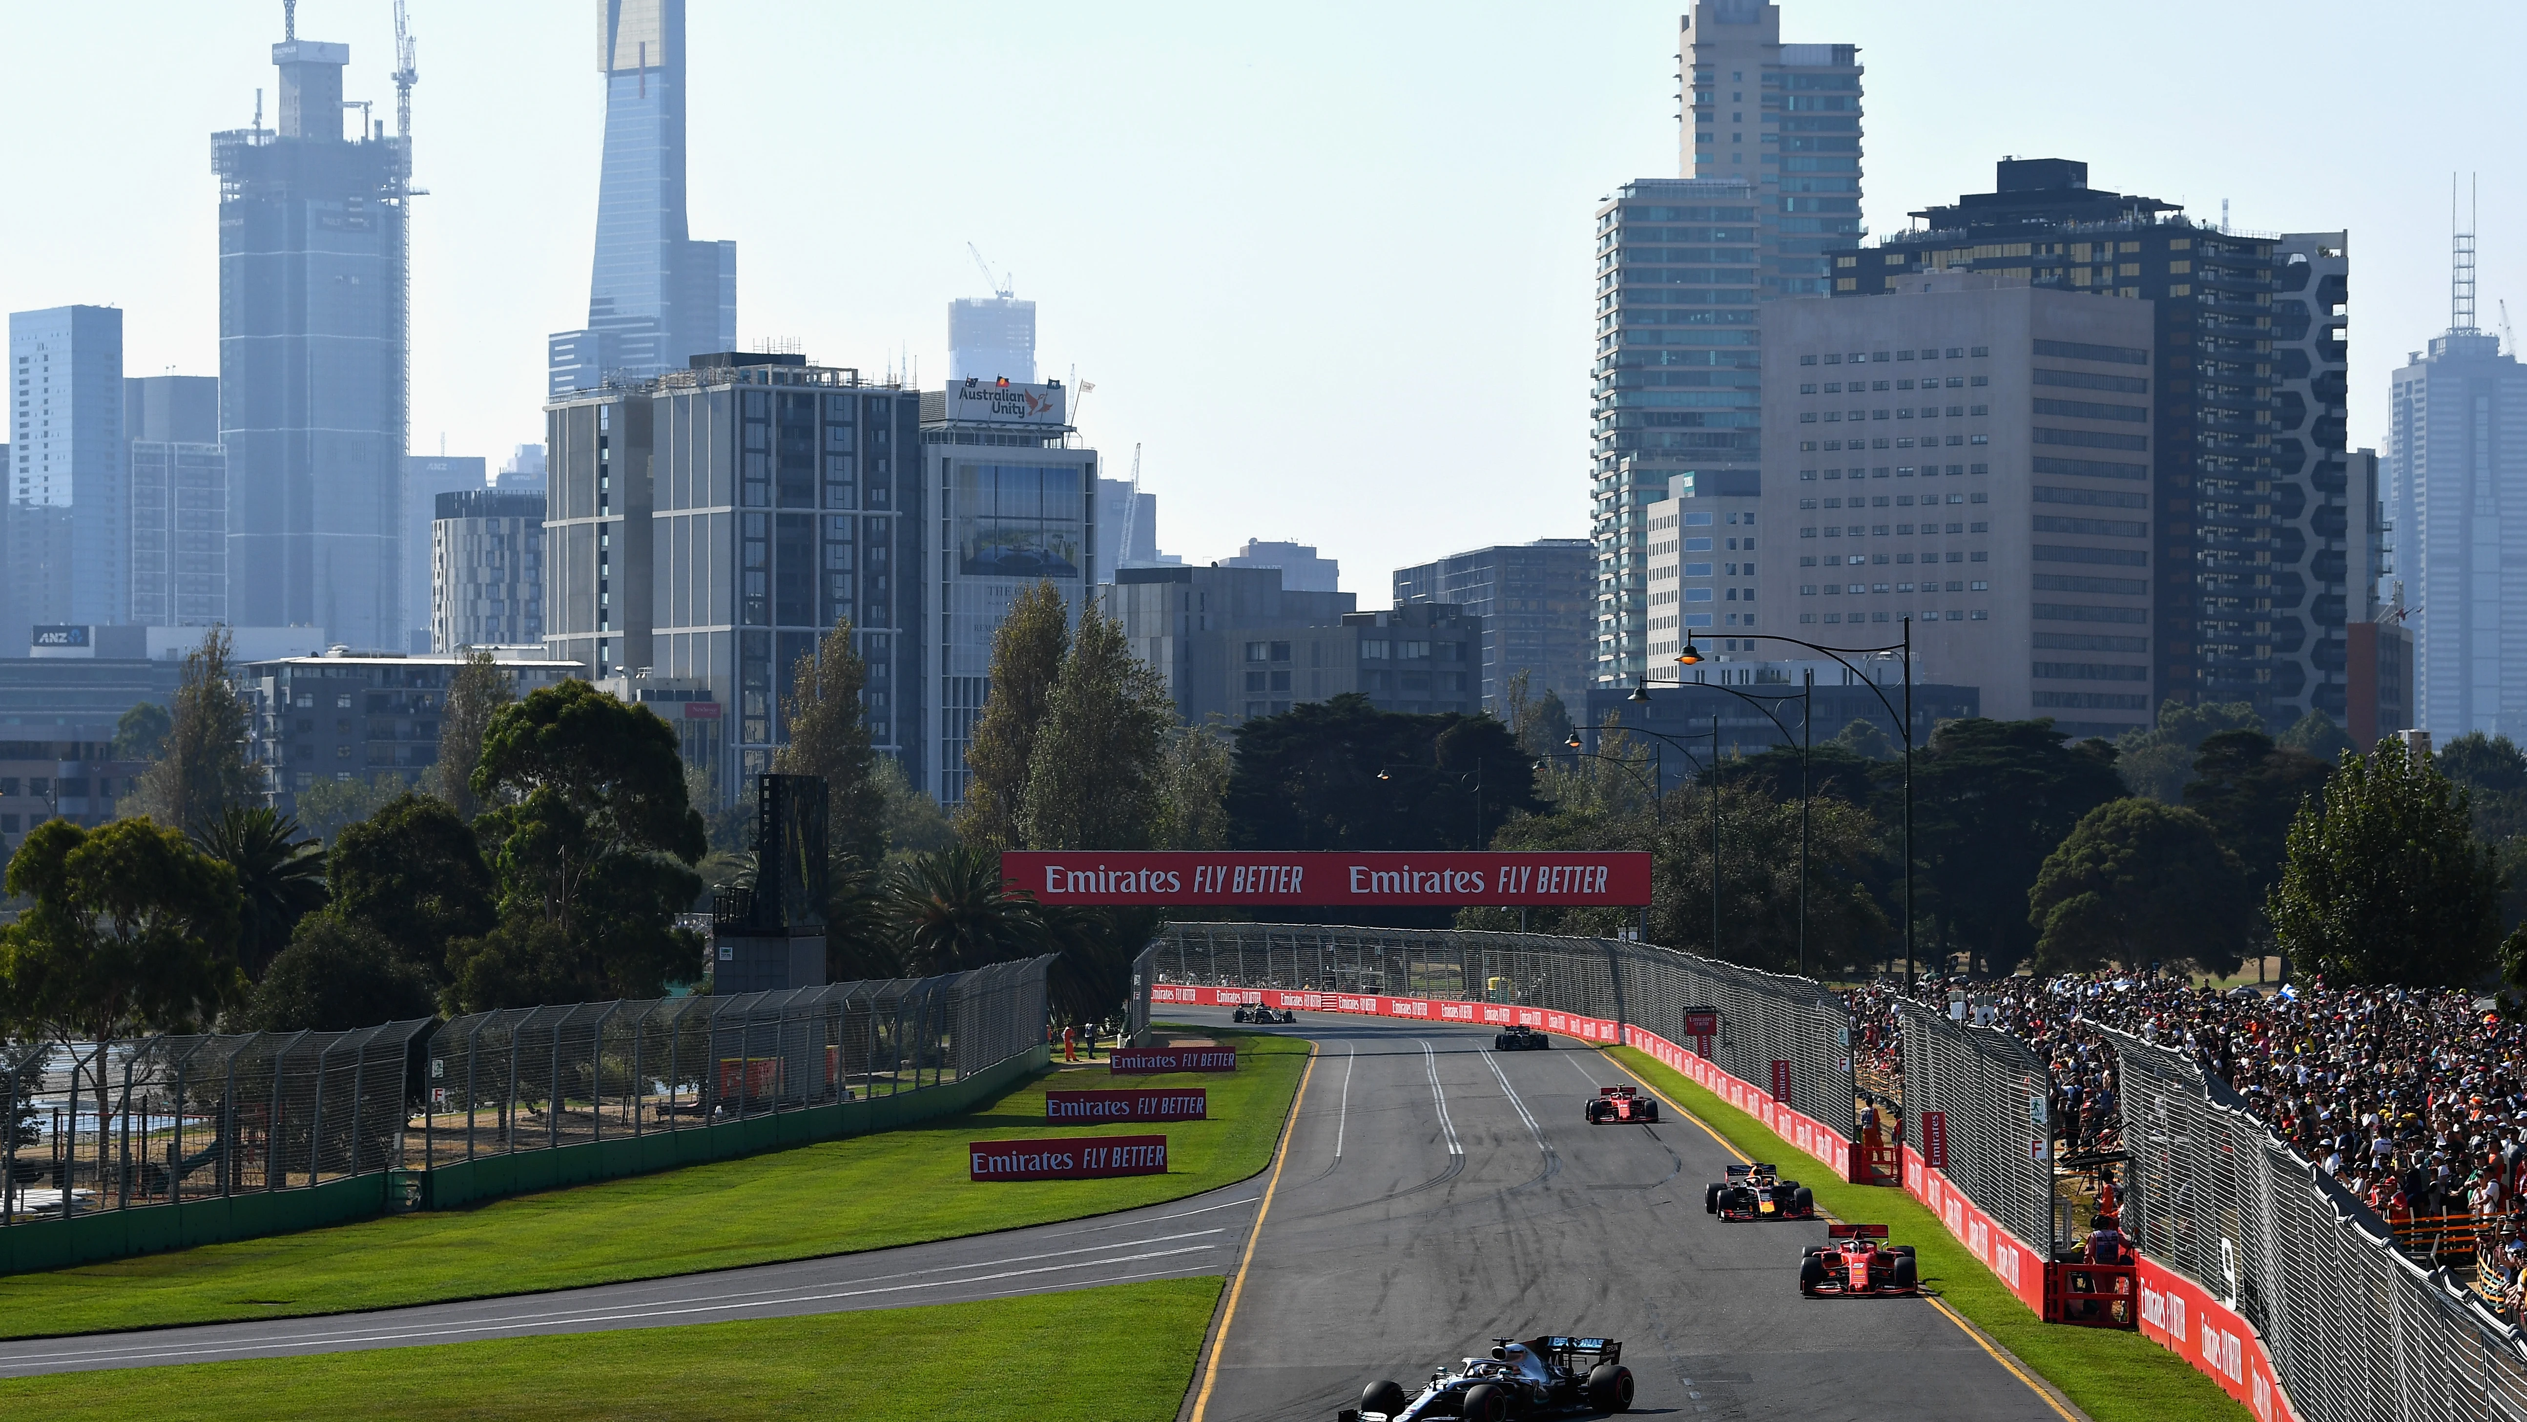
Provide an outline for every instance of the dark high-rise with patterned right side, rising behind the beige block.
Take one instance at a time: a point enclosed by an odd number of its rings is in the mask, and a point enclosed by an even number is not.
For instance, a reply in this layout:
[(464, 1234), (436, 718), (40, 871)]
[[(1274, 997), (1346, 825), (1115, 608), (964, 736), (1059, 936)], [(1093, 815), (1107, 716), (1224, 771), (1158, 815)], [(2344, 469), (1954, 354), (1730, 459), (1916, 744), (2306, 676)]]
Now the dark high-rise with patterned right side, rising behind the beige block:
[[(2173, 202), (2087, 184), (2072, 159), (2001, 159), (1994, 192), (1915, 212), (1921, 227), (1842, 250), (1835, 296), (1910, 273), (1974, 270), (2037, 288), (2148, 301), (2158, 354), (2148, 429), (2128, 445), (2153, 485), (2153, 687), (2252, 702), (2284, 727), (2345, 715), (2350, 462), (2343, 232), (2231, 232)], [(2052, 379), (2037, 414), (2097, 404)], [(2047, 462), (2092, 460), (2082, 447)]]

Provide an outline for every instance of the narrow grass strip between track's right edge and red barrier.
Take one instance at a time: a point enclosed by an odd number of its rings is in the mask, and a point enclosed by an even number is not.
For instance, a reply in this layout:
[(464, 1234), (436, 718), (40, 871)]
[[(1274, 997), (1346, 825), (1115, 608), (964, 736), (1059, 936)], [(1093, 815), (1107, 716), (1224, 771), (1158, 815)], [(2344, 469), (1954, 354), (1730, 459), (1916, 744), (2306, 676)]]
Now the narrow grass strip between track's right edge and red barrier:
[[(1605, 1051), (1708, 1121), (1744, 1154), (1782, 1162), (1804, 1159), (1789, 1142), (1764, 1129), (1764, 1121), (1703, 1091), (1658, 1058), (1627, 1046)], [(2044, 1323), (1931, 1210), (1903, 1190), (1835, 1180), (1807, 1180), (1807, 1185), (1817, 1190), (1817, 1205), (1840, 1220), (1890, 1225), (1895, 1243), (1915, 1248), (1921, 1281), (1936, 1288), (1941, 1301), (2044, 1374), (2044, 1382), (2060, 1387), (2097, 1422), (2241, 1422), (2249, 1417), (2219, 1384), (2193, 1371), (2193, 1364), (2140, 1334)]]

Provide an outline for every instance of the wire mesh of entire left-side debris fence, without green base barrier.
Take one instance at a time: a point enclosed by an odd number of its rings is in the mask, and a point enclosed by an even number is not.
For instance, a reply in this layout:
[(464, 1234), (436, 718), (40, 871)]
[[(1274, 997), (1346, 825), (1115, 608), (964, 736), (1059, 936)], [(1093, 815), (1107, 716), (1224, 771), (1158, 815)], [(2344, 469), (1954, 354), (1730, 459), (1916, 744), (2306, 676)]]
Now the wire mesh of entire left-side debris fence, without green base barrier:
[(1049, 962), (351, 1033), (0, 1043), (0, 1228), (945, 1086), (1044, 1046)]

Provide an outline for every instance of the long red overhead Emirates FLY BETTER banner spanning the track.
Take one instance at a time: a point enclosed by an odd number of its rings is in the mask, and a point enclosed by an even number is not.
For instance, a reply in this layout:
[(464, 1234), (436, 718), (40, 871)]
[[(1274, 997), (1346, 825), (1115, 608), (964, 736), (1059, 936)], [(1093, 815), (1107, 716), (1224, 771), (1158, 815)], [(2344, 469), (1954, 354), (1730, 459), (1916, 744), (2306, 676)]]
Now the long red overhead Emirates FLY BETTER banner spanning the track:
[(1011, 851), (1001, 879), (1046, 904), (1648, 904), (1648, 854), (1056, 854)]

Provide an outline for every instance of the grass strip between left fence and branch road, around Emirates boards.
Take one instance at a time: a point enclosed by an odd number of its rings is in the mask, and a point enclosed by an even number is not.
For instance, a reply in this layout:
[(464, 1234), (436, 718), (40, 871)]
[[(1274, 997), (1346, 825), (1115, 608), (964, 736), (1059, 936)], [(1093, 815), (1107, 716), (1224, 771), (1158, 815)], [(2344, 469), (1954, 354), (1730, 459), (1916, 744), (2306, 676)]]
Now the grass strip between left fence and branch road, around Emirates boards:
[[(493, 1200), (0, 1278), (0, 1339), (394, 1308), (912, 1245), (1183, 1200), (1271, 1162), (1306, 1043), (1218, 1033), (1233, 1073), (1054, 1071), (965, 1116)], [(1208, 1121), (1044, 1121), (1044, 1091), (1208, 1086)], [(1167, 1134), (1167, 1174), (970, 1185), (975, 1139)]]

